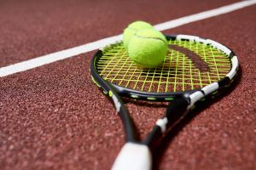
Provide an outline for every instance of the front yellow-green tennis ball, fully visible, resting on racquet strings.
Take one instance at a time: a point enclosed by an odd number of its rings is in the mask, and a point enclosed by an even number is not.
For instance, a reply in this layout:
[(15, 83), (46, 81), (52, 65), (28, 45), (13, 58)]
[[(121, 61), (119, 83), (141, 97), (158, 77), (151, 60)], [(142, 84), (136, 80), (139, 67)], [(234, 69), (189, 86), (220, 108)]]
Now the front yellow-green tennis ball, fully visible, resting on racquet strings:
[(154, 68), (166, 58), (166, 37), (153, 29), (137, 31), (128, 46), (129, 57), (142, 68)]

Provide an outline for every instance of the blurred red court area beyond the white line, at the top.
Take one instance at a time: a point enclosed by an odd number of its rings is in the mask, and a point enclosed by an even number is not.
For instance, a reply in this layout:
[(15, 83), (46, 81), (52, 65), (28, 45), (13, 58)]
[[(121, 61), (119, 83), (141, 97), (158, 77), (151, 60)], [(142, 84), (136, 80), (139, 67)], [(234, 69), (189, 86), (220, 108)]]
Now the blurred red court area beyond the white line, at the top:
[(112, 37), (134, 20), (158, 24), (232, 2), (1, 1), (0, 66)]

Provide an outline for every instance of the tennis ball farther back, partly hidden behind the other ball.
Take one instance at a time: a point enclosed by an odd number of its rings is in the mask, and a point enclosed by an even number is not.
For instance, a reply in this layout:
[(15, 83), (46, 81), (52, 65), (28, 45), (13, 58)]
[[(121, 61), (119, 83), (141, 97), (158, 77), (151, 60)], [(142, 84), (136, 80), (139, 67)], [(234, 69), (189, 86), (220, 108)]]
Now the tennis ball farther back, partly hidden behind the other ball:
[(129, 26), (127, 26), (123, 34), (125, 49), (127, 49), (131, 37), (134, 34), (136, 34), (137, 31), (148, 29), (148, 28), (153, 29), (153, 26), (151, 26), (150, 24), (144, 21), (135, 21), (135, 22), (132, 22)]

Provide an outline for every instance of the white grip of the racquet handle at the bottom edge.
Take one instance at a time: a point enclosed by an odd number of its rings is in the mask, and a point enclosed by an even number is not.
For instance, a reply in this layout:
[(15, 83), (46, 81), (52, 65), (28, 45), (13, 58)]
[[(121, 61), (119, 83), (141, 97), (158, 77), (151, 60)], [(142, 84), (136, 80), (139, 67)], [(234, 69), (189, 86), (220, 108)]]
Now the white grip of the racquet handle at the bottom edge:
[(126, 143), (113, 163), (112, 170), (150, 170), (152, 156), (144, 144)]

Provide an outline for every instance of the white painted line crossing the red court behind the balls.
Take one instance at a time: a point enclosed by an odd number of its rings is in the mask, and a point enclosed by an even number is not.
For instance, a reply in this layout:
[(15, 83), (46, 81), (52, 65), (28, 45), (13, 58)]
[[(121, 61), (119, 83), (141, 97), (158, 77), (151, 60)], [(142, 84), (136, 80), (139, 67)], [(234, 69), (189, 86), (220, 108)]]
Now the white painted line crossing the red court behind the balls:
[[(212, 10), (204, 11), (198, 14), (191, 14), (189, 16), (185, 16), (182, 18), (179, 18), (177, 20), (170, 20), (167, 22), (164, 22), (159, 25), (155, 25), (155, 29), (159, 31), (164, 31), (167, 29), (171, 29), (177, 26), (183, 26), (185, 24), (195, 22), (197, 20), (204, 20), (207, 18), (210, 18), (212, 16), (217, 16), (219, 14), (226, 14), (230, 13), (231, 11), (240, 9), (240, 8), (245, 8), (247, 6), (253, 5), (256, 3), (256, 0), (251, 0), (251, 1), (241, 1), (238, 3), (232, 3), (230, 5), (226, 5), (220, 8), (215, 8)], [(29, 59), (26, 61), (22, 61), (20, 63), (16, 63), (14, 65), (8, 65), (5, 67), (0, 68), (0, 77), (6, 77), (11, 74), (15, 74), (17, 72), (21, 71), (27, 71), (32, 68), (36, 68), (41, 65), (47, 65), (49, 63), (53, 63), (55, 61), (61, 60), (61, 59), (67, 59), (70, 57), (73, 57), (78, 54), (84, 54), (87, 52), (90, 52), (92, 50), (102, 48), (110, 43), (117, 42), (122, 40), (122, 34), (113, 36), (113, 37), (107, 37), (101, 40), (98, 40), (96, 42), (90, 42), (78, 47), (74, 48), (68, 48), (53, 54), (47, 54), (41, 57), (37, 57), (34, 59)]]

